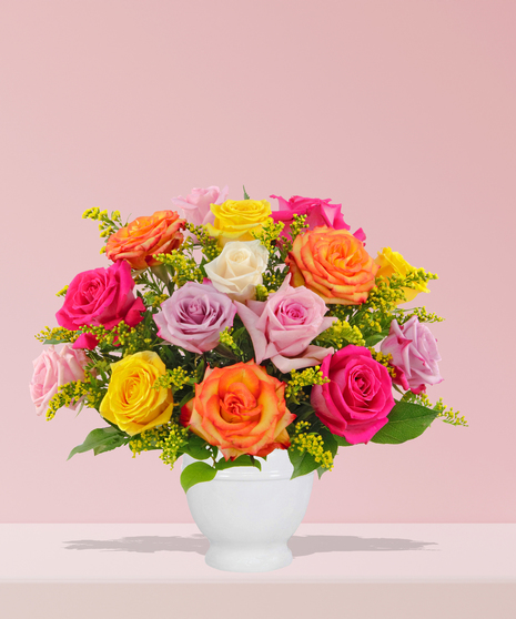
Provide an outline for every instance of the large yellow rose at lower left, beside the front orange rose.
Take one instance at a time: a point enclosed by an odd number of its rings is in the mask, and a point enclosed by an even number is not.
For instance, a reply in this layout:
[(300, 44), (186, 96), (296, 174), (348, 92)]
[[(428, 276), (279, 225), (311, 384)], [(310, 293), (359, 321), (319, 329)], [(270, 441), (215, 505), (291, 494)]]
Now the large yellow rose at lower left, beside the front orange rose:
[(154, 380), (166, 373), (155, 353), (144, 351), (111, 364), (108, 393), (100, 405), (104, 419), (130, 436), (166, 424), (172, 416), (170, 389), (153, 389)]

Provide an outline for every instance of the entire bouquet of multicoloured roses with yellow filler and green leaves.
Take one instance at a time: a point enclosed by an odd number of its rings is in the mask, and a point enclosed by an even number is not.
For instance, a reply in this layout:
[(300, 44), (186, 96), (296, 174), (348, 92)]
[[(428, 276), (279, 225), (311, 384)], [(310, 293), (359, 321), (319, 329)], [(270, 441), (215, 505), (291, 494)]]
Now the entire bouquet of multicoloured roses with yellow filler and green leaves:
[[(124, 224), (99, 209), (105, 268), (79, 273), (55, 328), (37, 337), (39, 415), (88, 406), (104, 426), (70, 453), (155, 449), (185, 490), (287, 449), (292, 477), (333, 467), (338, 447), (398, 444), (436, 417), (466, 425), (426, 386), (442, 380), (424, 307), (436, 275), (388, 247), (373, 258), (340, 204), (227, 199), (193, 190)], [(55, 346), (59, 346), (57, 348)]]

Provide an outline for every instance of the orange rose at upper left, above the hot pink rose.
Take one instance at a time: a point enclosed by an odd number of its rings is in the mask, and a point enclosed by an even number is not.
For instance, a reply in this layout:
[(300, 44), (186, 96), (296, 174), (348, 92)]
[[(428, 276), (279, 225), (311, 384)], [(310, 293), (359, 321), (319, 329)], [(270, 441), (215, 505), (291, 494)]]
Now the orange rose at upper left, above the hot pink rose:
[(113, 262), (127, 260), (133, 268), (155, 266), (160, 263), (152, 254), (170, 254), (181, 245), (185, 221), (174, 211), (138, 217), (109, 237), (105, 255)]

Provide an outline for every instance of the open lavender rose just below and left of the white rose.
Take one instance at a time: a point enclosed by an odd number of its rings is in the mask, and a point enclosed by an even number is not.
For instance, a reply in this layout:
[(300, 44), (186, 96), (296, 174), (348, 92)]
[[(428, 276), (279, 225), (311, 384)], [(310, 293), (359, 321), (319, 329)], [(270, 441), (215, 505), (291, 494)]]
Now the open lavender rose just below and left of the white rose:
[(202, 354), (217, 346), (221, 332), (233, 325), (235, 313), (231, 298), (205, 280), (203, 284), (184, 284), (161, 304), (153, 318), (160, 337)]

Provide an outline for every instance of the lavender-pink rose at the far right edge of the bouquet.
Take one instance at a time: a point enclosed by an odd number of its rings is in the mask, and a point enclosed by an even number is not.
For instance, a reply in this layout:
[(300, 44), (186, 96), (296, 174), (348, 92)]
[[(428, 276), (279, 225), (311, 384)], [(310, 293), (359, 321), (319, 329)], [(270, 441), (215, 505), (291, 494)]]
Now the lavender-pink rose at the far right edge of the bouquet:
[(391, 363), (397, 369), (394, 382), (404, 389), (418, 394), (426, 389), (425, 383), (436, 385), (443, 380), (437, 365), (441, 361), (437, 342), (417, 316), (412, 316), (404, 325), (393, 321), (380, 348), (385, 355), (393, 355)]

